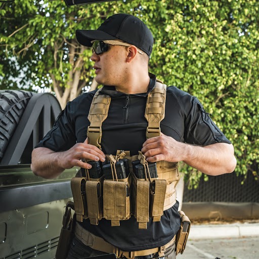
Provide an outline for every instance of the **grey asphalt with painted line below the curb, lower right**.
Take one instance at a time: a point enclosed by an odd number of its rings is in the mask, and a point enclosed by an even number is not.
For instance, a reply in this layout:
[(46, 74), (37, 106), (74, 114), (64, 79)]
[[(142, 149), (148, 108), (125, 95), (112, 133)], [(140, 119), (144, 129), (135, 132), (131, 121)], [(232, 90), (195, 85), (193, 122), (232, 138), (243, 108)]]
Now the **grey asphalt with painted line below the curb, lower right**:
[(259, 237), (188, 240), (177, 259), (259, 259)]

